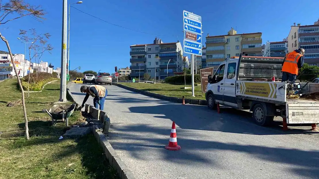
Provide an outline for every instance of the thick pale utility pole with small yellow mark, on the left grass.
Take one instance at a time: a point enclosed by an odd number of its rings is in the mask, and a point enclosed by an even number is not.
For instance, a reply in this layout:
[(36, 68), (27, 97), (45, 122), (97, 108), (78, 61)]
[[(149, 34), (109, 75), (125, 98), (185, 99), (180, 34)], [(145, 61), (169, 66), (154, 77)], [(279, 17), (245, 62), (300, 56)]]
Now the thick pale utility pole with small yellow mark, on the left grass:
[(63, 0), (63, 15), (62, 15), (62, 48), (61, 48), (61, 84), (60, 84), (60, 99), (59, 101), (66, 101), (66, 41), (67, 41), (67, 9), (68, 1)]

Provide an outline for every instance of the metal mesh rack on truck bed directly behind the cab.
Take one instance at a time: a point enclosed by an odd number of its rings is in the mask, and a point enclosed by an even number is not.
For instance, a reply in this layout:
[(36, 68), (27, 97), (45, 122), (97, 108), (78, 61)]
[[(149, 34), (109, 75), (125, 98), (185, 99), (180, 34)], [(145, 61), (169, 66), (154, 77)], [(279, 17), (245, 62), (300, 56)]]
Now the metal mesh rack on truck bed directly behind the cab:
[(282, 78), (282, 63), (284, 58), (279, 57), (250, 57), (241, 56), (238, 70), (238, 79)]

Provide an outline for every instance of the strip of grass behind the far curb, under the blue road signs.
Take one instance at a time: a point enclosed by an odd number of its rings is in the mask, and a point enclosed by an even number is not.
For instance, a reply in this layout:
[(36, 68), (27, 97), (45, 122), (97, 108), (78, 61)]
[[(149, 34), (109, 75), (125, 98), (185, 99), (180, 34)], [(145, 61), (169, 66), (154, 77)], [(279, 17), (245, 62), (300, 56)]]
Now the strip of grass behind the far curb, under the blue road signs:
[[(173, 85), (167, 83), (151, 84), (151, 83), (120, 83), (125, 86), (137, 88), (140, 90), (163, 94), (166, 96), (182, 98), (191, 98), (197, 100), (205, 100), (205, 93), (202, 94), (201, 86), (195, 86), (195, 97), (192, 97), (192, 89), (181, 89), (184, 85)], [(192, 87), (191, 85), (186, 85), (186, 87)]]

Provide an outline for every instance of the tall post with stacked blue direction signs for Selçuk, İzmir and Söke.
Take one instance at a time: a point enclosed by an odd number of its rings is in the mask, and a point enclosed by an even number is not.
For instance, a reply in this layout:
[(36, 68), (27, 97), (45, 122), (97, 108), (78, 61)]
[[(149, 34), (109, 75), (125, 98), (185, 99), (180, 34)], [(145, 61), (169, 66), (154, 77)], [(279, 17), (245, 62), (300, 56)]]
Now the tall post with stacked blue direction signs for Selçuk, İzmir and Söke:
[[(194, 60), (202, 56), (202, 17), (186, 10), (183, 10), (184, 47), (183, 52), (191, 56), (192, 71), (192, 96), (195, 96), (194, 89)], [(197, 64), (195, 64), (197, 65)], [(206, 85), (207, 86), (207, 85)]]

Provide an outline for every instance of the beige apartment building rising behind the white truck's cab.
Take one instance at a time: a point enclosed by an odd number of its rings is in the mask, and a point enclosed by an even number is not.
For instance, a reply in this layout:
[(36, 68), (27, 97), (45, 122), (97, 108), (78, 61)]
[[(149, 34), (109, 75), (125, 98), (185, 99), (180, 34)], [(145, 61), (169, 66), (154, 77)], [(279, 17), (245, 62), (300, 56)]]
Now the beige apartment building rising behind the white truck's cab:
[(214, 67), (214, 71), (225, 59), (239, 56), (262, 56), (262, 33), (237, 34), (234, 28), (227, 35), (206, 37), (206, 67)]

